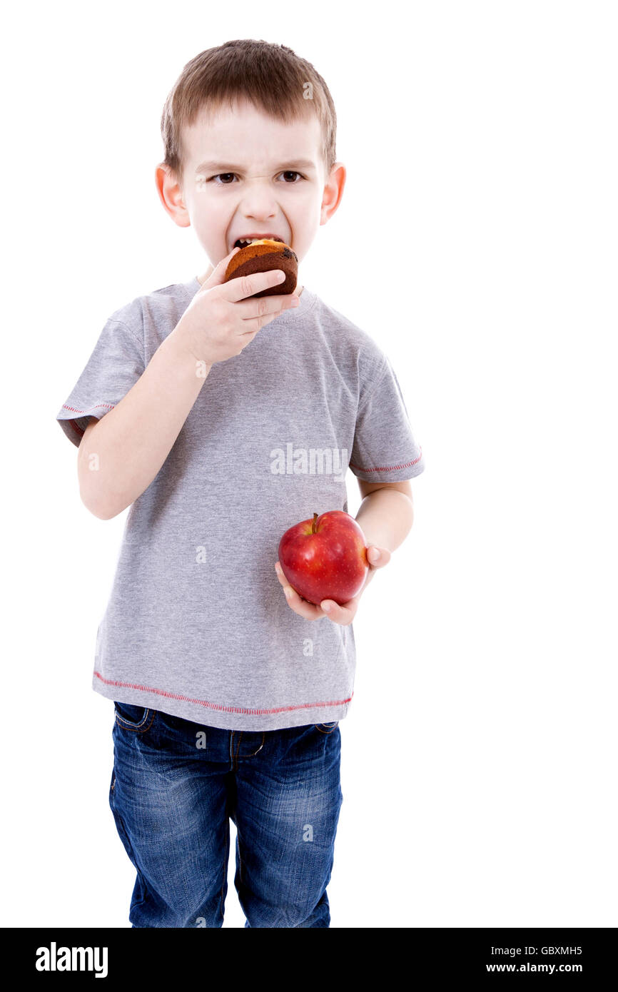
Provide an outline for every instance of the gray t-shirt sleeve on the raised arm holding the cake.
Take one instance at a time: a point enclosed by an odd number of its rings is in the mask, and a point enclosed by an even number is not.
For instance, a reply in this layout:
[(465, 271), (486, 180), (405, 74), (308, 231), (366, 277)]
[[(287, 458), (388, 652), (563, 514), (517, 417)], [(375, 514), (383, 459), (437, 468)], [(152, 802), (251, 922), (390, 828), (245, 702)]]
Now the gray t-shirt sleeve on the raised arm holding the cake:
[(145, 368), (143, 340), (140, 341), (122, 320), (109, 317), (56, 418), (76, 447), (90, 417), (100, 420), (113, 410)]

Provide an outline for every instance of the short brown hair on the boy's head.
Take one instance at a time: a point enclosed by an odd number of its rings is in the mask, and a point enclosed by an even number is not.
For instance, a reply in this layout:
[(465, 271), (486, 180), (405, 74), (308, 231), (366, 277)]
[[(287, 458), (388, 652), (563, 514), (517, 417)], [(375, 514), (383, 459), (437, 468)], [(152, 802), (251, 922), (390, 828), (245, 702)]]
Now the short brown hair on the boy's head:
[(337, 119), (321, 75), (285, 45), (240, 39), (206, 49), (187, 62), (165, 102), (163, 164), (180, 184), (185, 167), (183, 128), (194, 124), (202, 108), (216, 112), (227, 105), (232, 110), (234, 102), (243, 98), (287, 124), (313, 112), (320, 123), (320, 153), (329, 175), (335, 162)]

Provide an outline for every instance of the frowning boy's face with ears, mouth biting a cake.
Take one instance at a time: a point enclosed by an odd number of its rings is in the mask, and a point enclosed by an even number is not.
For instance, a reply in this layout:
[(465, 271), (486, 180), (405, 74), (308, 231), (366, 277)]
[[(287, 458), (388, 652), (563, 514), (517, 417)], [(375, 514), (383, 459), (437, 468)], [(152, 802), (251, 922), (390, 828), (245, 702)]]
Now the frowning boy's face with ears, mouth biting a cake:
[(194, 227), (212, 266), (238, 238), (266, 234), (289, 244), (300, 262), (345, 183), (341, 163), (324, 176), (320, 140), (314, 114), (285, 124), (247, 101), (211, 120), (202, 113), (183, 135), (182, 186), (158, 167), (160, 196), (177, 224)]

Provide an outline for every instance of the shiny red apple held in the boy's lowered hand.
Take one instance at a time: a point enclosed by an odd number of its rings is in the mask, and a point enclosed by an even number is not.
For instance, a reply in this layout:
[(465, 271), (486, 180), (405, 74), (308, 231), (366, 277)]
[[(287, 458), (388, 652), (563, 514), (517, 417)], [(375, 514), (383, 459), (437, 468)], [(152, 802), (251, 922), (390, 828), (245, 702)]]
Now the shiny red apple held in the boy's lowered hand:
[(344, 510), (314, 513), (291, 527), (279, 542), (279, 562), (292, 588), (316, 606), (322, 599), (347, 603), (369, 570), (365, 536)]

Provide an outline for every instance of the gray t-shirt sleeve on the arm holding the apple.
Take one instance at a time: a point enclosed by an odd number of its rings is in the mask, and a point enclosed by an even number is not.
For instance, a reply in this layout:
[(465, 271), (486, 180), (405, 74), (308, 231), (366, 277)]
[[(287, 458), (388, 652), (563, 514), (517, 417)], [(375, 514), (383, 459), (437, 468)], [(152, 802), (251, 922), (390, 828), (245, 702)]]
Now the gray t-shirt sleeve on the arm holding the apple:
[(365, 482), (404, 482), (425, 469), (423, 449), (387, 355), (359, 400), (350, 469)]

